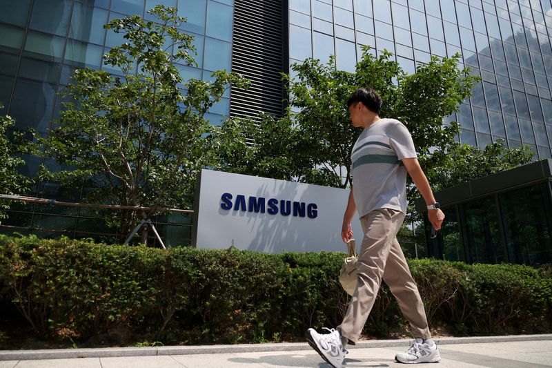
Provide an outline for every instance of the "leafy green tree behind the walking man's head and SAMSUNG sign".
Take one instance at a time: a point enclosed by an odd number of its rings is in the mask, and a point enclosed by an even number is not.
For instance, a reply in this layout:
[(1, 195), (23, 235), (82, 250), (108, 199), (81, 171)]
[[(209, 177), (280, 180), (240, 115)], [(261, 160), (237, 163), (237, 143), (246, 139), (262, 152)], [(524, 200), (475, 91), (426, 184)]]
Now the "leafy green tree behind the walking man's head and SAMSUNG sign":
[[(374, 88), (382, 96), (380, 116), (400, 119), (411, 131), (422, 165), (438, 166), (436, 158), (431, 161), (428, 158), (435, 150), (445, 151), (453, 146), (459, 131), (457, 123), (444, 125), (443, 119), (471, 95), (478, 80), (469, 75), (469, 70), (458, 67), (459, 57), (433, 57), (412, 75), (400, 68), (391, 53), (382, 52), (375, 57), (368, 47), (364, 48), (355, 72), (337, 70), (333, 56), (325, 65), (317, 59), (294, 64), (291, 66), (294, 77), (284, 75), (289, 108), (279, 122), (279, 131), (285, 131), (286, 135), (264, 137), (259, 146), (250, 145), (249, 151), (244, 148), (247, 154), (243, 157), (252, 157), (255, 163), (264, 162), (266, 152), (277, 155), (274, 150), (265, 149), (272, 144), (286, 160), (285, 164), (279, 162), (275, 166), (281, 176), (346, 188), (351, 184), (351, 150), (360, 133), (351, 124), (346, 101), (355, 89), (363, 86)], [(256, 130), (264, 129), (265, 125), (244, 124), (239, 133), (235, 127), (233, 123), (223, 126), (223, 130), (234, 128), (229, 135), (254, 137), (259, 135)], [(253, 175), (264, 172), (257, 164), (247, 169)]]

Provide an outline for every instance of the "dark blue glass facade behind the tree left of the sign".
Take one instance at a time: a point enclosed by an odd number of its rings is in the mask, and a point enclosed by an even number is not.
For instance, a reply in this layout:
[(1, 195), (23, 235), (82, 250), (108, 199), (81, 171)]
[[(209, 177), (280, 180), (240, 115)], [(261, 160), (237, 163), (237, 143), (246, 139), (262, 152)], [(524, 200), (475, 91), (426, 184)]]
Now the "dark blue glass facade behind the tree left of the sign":
[[(117, 74), (117, 70), (103, 66), (101, 56), (125, 40), (115, 32), (106, 32), (103, 24), (131, 14), (150, 19), (146, 11), (158, 4), (177, 7), (179, 15), (188, 19), (181, 29), (195, 37), (197, 68), (179, 66), (184, 79), (208, 80), (215, 70), (230, 71), (233, 0), (0, 0), (0, 102), (4, 106), (0, 113), (14, 117), (17, 129), (34, 128), (40, 135), (47, 135), (59, 118), (63, 102), (59, 92), (70, 83), (77, 68)], [(228, 90), (207, 117), (213, 124), (220, 124), (229, 112)], [(28, 166), (23, 171), (28, 175), (34, 175), (41, 163), (59, 167), (43, 157), (25, 159)], [(77, 202), (81, 191), (61, 193), (56, 184), (41, 183), (33, 193), (26, 194)], [(84, 234), (81, 231), (91, 231), (109, 238), (109, 229), (99, 226), (85, 209), (15, 204), (9, 215), (4, 223), (19, 226), (20, 233), (26, 233), (26, 228), (55, 229), (78, 237)], [(164, 215), (157, 222), (161, 236), (175, 239), (175, 244), (189, 242), (189, 217)]]

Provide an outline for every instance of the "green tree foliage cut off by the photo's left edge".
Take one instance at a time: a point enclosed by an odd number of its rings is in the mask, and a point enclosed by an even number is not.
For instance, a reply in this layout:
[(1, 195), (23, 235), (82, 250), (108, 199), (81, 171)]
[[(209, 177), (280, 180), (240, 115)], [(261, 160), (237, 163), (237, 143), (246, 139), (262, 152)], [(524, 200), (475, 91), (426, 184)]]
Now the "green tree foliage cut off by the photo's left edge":
[[(3, 108), (0, 104), (0, 110)], [(15, 125), (10, 116), (0, 117), (0, 194), (22, 195), (28, 193), (33, 181), (30, 177), (17, 171), (19, 166), (25, 165), (21, 158), (23, 153), (32, 151), (32, 144), (25, 139), (25, 133), (8, 131)], [(6, 210), (10, 209), (8, 200), (0, 200), (0, 224), (7, 218)]]

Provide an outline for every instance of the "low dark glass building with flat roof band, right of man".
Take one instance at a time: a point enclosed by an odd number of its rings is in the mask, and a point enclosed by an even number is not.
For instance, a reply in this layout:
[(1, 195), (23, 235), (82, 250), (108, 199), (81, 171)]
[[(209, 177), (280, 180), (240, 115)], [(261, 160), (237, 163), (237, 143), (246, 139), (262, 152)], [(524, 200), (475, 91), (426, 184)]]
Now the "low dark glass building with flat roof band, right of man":
[[(435, 193), (446, 220), (427, 254), (468, 263), (552, 263), (552, 160)], [(417, 203), (424, 211), (425, 204)]]

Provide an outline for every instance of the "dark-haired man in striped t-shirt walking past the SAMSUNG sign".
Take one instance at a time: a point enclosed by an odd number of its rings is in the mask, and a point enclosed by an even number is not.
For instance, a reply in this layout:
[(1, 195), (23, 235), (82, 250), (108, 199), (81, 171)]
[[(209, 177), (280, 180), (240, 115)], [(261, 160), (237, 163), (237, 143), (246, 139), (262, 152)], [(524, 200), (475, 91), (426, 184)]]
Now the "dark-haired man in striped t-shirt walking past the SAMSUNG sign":
[(380, 95), (375, 90), (359, 88), (351, 94), (347, 106), (353, 126), (364, 128), (351, 153), (354, 185), (342, 226), (342, 238), (347, 242), (353, 237), (351, 220), (358, 212), (364, 237), (357, 262), (357, 288), (342, 324), (326, 329), (329, 333), (308, 329), (306, 339), (326, 362), (341, 368), (347, 354), (344, 347), (357, 342), (384, 280), (415, 337), (408, 351), (397, 354), (395, 360), (438, 362), (441, 357), (431, 340), (422, 298), (396, 238), (406, 214), (406, 173), (424, 197), (435, 230), (441, 228), (444, 213), (417, 161), (406, 126), (395, 119), (380, 118)]

